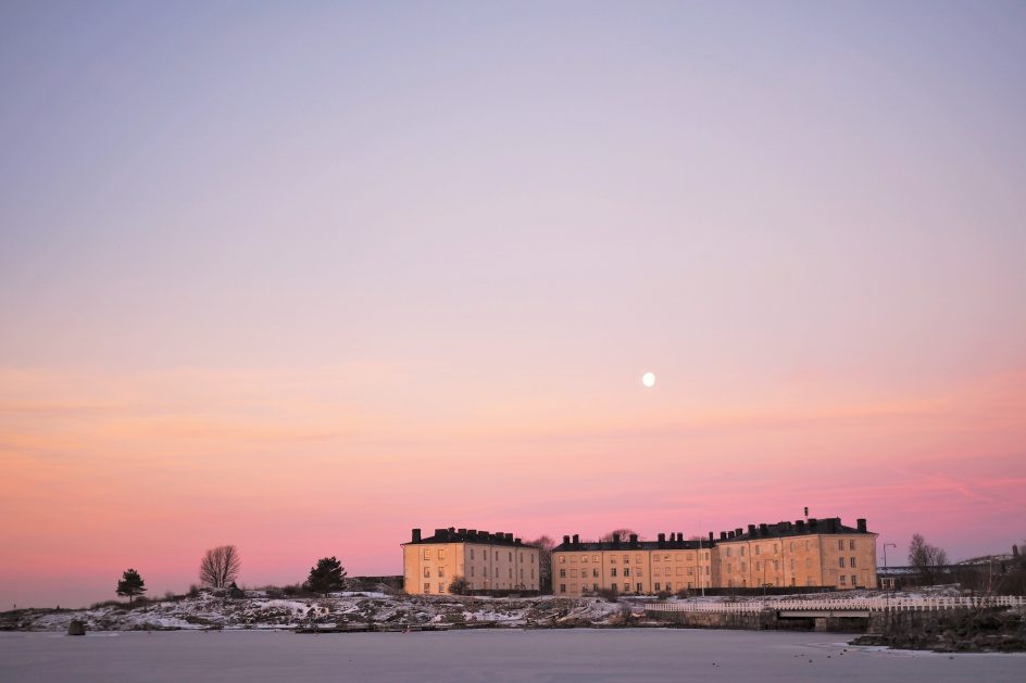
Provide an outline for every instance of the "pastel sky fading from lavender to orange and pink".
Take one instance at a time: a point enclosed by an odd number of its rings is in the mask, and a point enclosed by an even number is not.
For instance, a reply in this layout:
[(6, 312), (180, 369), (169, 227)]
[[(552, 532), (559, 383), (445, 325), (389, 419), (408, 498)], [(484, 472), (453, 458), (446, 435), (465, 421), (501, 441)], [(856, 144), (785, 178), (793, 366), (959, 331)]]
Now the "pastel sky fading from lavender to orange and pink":
[(2, 0), (0, 150), (0, 609), (1026, 537), (1021, 2)]

